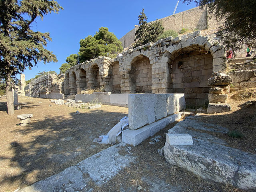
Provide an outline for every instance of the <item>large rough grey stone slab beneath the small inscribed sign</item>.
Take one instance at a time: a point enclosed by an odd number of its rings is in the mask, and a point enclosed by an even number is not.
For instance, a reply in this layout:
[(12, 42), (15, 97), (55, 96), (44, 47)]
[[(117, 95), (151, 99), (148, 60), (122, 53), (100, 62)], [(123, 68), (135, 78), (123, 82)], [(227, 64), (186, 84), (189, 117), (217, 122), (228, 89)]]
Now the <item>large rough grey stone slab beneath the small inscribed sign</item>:
[[(200, 116), (186, 118), (168, 133), (188, 133), (193, 146), (164, 146), (166, 160), (175, 166), (185, 168), (204, 179), (232, 184), (242, 189), (256, 189), (256, 155), (224, 146), (225, 142), (210, 134), (197, 132), (207, 130), (225, 133), (226, 128), (200, 122)], [(188, 128), (192, 128), (190, 130)]]

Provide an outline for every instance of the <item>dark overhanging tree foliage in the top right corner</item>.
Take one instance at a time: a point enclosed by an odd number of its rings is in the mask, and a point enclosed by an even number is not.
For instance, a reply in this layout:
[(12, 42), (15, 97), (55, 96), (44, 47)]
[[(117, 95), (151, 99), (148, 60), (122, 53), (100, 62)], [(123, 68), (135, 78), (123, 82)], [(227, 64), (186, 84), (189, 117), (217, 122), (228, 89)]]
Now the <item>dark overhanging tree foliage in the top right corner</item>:
[[(210, 14), (220, 21), (218, 29), (226, 49), (241, 50), (244, 43), (256, 47), (256, 1), (255, 0), (183, 0), (207, 5)], [(223, 24), (221, 23), (222, 21)]]

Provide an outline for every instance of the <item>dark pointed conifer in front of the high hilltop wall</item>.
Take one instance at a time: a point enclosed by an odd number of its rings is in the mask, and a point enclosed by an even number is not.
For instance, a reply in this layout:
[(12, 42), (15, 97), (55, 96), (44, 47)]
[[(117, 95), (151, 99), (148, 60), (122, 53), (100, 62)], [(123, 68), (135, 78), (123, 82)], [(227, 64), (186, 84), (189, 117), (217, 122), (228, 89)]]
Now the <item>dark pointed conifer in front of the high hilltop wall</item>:
[(156, 20), (155, 22), (147, 23), (147, 16), (144, 14), (144, 9), (140, 12), (138, 16), (139, 28), (135, 32), (134, 47), (147, 44), (148, 42), (155, 42), (164, 32), (164, 27), (162, 22)]

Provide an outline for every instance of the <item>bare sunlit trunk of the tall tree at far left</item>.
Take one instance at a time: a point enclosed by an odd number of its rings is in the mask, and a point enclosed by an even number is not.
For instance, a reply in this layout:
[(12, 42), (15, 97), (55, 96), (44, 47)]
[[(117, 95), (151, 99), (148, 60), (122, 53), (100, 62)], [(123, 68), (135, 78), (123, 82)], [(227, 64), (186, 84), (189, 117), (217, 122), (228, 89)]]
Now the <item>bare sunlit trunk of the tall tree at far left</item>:
[(13, 115), (14, 106), (13, 106), (13, 96), (12, 96), (12, 78), (10, 74), (8, 74), (6, 78), (6, 100), (7, 100), (8, 114)]

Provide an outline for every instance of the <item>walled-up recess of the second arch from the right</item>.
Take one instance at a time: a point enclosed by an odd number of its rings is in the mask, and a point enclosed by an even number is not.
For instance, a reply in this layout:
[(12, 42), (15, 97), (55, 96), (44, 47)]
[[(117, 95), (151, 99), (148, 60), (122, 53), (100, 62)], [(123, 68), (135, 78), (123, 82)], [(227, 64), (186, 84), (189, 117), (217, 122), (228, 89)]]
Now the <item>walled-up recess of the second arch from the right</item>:
[(152, 93), (152, 64), (146, 56), (136, 56), (131, 62), (131, 91), (134, 93)]

